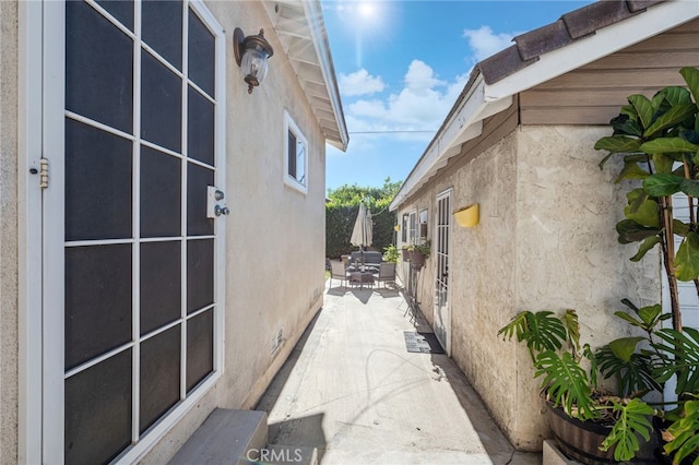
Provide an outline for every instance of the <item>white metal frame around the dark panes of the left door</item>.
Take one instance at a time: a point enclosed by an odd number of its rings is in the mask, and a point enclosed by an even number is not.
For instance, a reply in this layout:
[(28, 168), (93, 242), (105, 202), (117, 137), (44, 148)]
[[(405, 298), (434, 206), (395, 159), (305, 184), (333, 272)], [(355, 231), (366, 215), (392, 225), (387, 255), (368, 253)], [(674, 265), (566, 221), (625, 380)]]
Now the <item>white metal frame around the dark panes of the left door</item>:
[[(100, 9), (88, 0), (93, 8)], [(183, 22), (187, 24), (188, 9), (206, 24), (215, 37), (215, 182), (225, 189), (225, 90), (226, 90), (226, 41), (225, 33), (203, 1), (185, 1)], [(62, 463), (63, 461), (63, 302), (64, 289), (64, 14), (62, 1), (20, 2), (20, 433), (19, 457), (22, 463)], [(140, 22), (135, 21), (137, 24)], [(138, 26), (137, 26), (138, 27)], [(139, 32), (135, 31), (139, 35)], [(133, 35), (132, 35), (133, 36)], [(140, 75), (140, 39), (134, 37), (134, 93)], [(187, 44), (185, 26), (183, 46)], [(187, 75), (187, 60), (182, 63)], [(182, 92), (190, 84), (182, 81)], [(137, 94), (138, 95), (138, 94)], [(183, 98), (182, 118), (187, 118)], [(74, 115), (71, 118), (84, 119)], [(134, 134), (139, 134), (139, 106), (134, 108)], [(39, 124), (40, 121), (40, 124)], [(114, 131), (112, 131), (114, 132)], [(125, 135), (125, 134), (120, 134)], [(186, 142), (187, 131), (182, 138)], [(133, 139), (133, 136), (129, 136)], [(139, 144), (134, 144), (134, 170), (138, 169)], [(187, 144), (182, 145), (186, 154)], [(38, 168), (38, 159), (45, 156), (50, 163), (50, 184), (42, 193), (38, 176), (27, 177), (31, 168)], [(186, 169), (182, 169), (186, 179)], [(134, 184), (133, 202), (138, 205), (139, 187)], [(182, 189), (182, 211), (186, 218), (186, 192)], [(134, 215), (134, 230), (138, 216)], [(215, 282), (214, 299), (214, 372), (189, 396), (170, 410), (147, 434), (126, 450), (119, 461), (130, 463), (143, 456), (177, 421), (209, 391), (223, 373), (223, 327), (225, 309), (225, 220), (214, 225)], [(129, 242), (138, 241), (134, 235)], [(185, 248), (185, 241), (182, 241)], [(138, 259), (138, 248), (134, 259)], [(182, 253), (182, 264), (187, 255)], [(138, 260), (133, 261), (138, 279)], [(57, 278), (60, 276), (61, 278)], [(183, 285), (183, 283), (182, 283)], [(43, 293), (38, 293), (43, 289)], [(138, 293), (133, 293), (138, 302)], [(186, 300), (183, 300), (186, 306)], [(49, 309), (50, 307), (50, 309)], [(205, 310), (205, 309), (204, 309)], [(186, 312), (186, 309), (185, 309)], [(185, 315), (192, 318), (191, 315)], [(134, 327), (139, 321), (134, 318)], [(186, 324), (186, 323), (182, 323)], [(43, 329), (50, 331), (43, 331)], [(139, 334), (137, 331), (135, 334)], [(134, 345), (138, 347), (138, 344)], [(186, 345), (183, 345), (183, 350)], [(134, 350), (133, 370), (138, 375), (138, 349)], [(182, 362), (186, 362), (182, 357)], [(182, 374), (183, 375), (183, 374)], [(138, 378), (133, 385), (138, 389)], [(133, 420), (138, 425), (138, 396), (134, 396)], [(138, 428), (137, 428), (138, 429)], [(138, 439), (138, 438), (134, 438)]]

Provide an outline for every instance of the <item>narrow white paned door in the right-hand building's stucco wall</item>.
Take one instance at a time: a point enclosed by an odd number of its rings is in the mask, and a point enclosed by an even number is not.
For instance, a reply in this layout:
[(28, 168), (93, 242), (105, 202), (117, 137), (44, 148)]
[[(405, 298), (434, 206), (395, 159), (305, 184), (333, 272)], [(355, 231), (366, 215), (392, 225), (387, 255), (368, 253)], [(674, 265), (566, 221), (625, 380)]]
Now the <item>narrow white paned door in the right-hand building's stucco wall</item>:
[(447, 354), (451, 353), (451, 313), (449, 310), (449, 240), (451, 236), (451, 192), (437, 196), (435, 227), (435, 335)]

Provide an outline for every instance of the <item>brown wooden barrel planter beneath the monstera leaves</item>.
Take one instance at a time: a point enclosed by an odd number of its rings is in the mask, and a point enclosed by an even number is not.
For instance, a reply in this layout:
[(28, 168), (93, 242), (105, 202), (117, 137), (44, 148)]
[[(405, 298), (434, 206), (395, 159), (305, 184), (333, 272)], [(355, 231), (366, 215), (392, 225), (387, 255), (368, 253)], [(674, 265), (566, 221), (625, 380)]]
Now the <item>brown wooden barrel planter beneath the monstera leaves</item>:
[[(614, 460), (614, 449), (602, 452), (600, 445), (612, 431), (611, 426), (604, 426), (594, 421), (580, 421), (571, 418), (560, 407), (554, 407), (546, 403), (548, 409), (548, 426), (554, 433), (554, 439), (560, 452), (585, 465), (603, 465), (619, 463)], [(653, 454), (654, 441), (651, 442), (639, 439), (641, 449), (637, 452), (636, 458), (630, 463), (651, 465), (657, 464)], [(629, 463), (629, 462), (625, 462)]]

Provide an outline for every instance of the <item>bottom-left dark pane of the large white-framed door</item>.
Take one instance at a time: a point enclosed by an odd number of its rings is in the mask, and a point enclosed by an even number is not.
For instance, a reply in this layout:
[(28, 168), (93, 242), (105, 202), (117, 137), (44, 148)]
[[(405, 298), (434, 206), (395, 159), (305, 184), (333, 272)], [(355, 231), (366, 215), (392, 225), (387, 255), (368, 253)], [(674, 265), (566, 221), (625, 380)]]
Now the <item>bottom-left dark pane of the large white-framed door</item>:
[(131, 349), (66, 380), (66, 463), (103, 464), (131, 444)]

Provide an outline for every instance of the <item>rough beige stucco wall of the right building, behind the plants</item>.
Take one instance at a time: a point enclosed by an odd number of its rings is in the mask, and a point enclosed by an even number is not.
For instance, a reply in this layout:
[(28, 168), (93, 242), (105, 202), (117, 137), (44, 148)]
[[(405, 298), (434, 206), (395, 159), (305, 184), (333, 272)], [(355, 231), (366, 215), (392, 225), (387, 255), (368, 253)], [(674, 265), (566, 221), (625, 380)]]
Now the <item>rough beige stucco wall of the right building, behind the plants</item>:
[[(525, 347), (497, 331), (520, 310), (578, 310), (581, 338), (597, 347), (627, 335), (614, 311), (623, 298), (660, 301), (659, 257), (629, 261), (633, 246), (616, 240), (628, 183), (597, 164), (594, 142), (608, 128), (519, 127), (481, 154), (448, 168), (413, 199), (435, 204), (452, 188), (452, 210), (481, 204), (481, 223), (452, 223), (451, 356), (494, 418), (521, 450), (541, 450), (548, 436), (540, 380)], [(427, 266), (431, 274), (434, 264)], [(431, 313), (431, 285), (420, 289)]]

